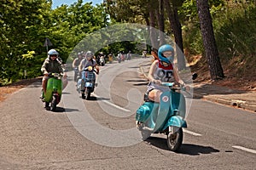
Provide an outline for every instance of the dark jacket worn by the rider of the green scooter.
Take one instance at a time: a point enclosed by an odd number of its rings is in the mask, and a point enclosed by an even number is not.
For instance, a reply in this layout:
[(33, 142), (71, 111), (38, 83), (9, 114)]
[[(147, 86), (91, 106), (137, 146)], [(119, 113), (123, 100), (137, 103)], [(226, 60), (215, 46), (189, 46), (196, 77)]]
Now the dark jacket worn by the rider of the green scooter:
[(41, 71), (44, 74), (47, 74), (49, 72), (54, 72), (54, 73), (63, 73), (64, 72), (64, 68), (62, 65), (62, 61), (61, 58), (57, 58), (55, 60), (46, 58), (44, 60), (44, 64), (41, 67)]

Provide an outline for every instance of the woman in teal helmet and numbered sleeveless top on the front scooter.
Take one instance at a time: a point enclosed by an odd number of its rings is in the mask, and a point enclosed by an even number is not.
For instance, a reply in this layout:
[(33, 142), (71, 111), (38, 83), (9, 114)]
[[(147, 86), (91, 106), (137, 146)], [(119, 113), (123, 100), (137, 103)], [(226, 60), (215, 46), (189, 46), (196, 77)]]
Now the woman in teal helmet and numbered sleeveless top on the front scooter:
[(148, 72), (148, 99), (160, 102), (162, 91), (169, 90), (168, 87), (161, 86), (161, 82), (178, 82), (187, 90), (183, 80), (178, 76), (177, 68), (173, 65), (174, 49), (171, 45), (162, 45), (158, 50), (158, 59), (154, 60)]

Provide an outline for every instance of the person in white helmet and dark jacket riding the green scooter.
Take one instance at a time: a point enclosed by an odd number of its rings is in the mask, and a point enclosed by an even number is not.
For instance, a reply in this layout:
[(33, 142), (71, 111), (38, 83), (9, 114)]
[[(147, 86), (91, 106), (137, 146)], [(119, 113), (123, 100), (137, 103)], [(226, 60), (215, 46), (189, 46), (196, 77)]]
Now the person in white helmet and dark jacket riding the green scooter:
[[(41, 67), (41, 71), (44, 74), (42, 80), (42, 88), (44, 94), (46, 93), (46, 85), (49, 79), (49, 72), (60, 73), (63, 74), (64, 66), (62, 65), (62, 60), (59, 57), (59, 53), (55, 49), (50, 49), (48, 51), (48, 57), (44, 60), (44, 64)], [(65, 73), (62, 78), (63, 89), (67, 86), (67, 74)], [(43, 94), (41, 99), (43, 98)]]

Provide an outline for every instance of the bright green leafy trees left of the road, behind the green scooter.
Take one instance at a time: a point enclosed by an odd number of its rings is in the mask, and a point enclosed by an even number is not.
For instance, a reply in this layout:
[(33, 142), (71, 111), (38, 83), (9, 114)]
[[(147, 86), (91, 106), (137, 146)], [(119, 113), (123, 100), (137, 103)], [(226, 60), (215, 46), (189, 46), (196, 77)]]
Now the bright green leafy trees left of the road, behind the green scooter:
[[(71, 6), (52, 9), (49, 0), (3, 0), (0, 4), (0, 84), (23, 77), (37, 77), (47, 56), (49, 38), (65, 61), (79, 41), (108, 25), (102, 5), (78, 0)], [(32, 51), (34, 54), (32, 54)]]

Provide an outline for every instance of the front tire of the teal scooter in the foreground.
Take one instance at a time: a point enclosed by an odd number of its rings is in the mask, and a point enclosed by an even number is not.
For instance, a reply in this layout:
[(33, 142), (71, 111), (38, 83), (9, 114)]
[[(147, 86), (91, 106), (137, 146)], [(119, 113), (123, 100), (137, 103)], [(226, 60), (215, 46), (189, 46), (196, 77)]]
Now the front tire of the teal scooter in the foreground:
[(183, 143), (183, 128), (179, 127), (176, 133), (168, 133), (167, 135), (167, 146), (169, 150), (179, 150)]

